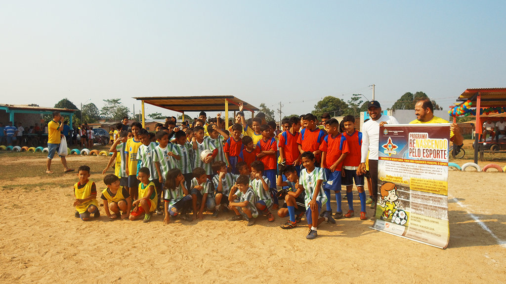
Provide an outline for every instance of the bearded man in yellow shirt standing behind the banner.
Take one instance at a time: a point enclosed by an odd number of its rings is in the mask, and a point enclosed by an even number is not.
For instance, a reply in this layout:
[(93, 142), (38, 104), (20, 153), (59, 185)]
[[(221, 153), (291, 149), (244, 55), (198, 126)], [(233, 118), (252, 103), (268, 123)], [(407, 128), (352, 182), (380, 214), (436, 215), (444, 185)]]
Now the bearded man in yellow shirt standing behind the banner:
[[(416, 119), (411, 121), (409, 124), (449, 123), (447, 120), (434, 116), (434, 106), (429, 99), (421, 99), (416, 102), (416, 105), (414, 106), (414, 113), (416, 115)], [(452, 123), (450, 125), (450, 141), (452, 141), (453, 144), (458, 147), (458, 149), (463, 146), (464, 138), (460, 132), (460, 128), (456, 123)]]

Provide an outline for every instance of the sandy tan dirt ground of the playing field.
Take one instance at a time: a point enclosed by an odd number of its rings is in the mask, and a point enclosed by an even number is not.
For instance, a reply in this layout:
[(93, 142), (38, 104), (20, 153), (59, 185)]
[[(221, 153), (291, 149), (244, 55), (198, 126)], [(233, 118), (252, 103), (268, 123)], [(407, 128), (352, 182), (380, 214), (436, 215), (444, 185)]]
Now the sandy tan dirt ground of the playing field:
[[(100, 190), (107, 160), (68, 158), (91, 166)], [(227, 221), (231, 213), (164, 225), (161, 216), (109, 221), (101, 207), (102, 217), (83, 222), (72, 206), (75, 172), (62, 173), (55, 159), (47, 175), (45, 163), (44, 154), (0, 152), (2, 283), (506, 282), (506, 173), (450, 171), (450, 241), (441, 250), (358, 216), (322, 224), (315, 240), (305, 239), (304, 220), (291, 230), (279, 228), (281, 218), (246, 227)]]

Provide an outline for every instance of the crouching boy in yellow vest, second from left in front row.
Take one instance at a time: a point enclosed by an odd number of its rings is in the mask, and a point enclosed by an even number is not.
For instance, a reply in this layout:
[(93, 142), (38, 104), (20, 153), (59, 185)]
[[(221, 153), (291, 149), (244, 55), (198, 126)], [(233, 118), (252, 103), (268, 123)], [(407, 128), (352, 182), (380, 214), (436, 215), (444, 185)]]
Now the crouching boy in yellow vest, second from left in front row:
[[(132, 209), (132, 198), (130, 198), (129, 191), (119, 184), (119, 178), (114, 174), (106, 175), (104, 183), (107, 188), (102, 191), (101, 199), (107, 217), (111, 220), (128, 218), (130, 209)], [(123, 214), (120, 210), (123, 211)], [(111, 214), (111, 211), (113, 214)]]

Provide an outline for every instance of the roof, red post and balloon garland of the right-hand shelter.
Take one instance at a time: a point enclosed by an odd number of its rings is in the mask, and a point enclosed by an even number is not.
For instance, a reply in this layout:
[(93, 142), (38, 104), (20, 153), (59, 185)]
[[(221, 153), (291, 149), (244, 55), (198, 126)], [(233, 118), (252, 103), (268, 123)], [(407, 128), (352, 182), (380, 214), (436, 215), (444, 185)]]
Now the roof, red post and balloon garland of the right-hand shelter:
[[(478, 155), (480, 152), (480, 135), (483, 132), (482, 117), (501, 115), (506, 113), (506, 88), (472, 88), (465, 90), (457, 98), (459, 103), (457, 106), (452, 106), (449, 111), (453, 116), (453, 121), (456, 121), (457, 116), (461, 115), (474, 115), (476, 116), (476, 129), (475, 129), (475, 149), (474, 149), (474, 162), (478, 163)], [(475, 109), (473, 109), (475, 108)]]

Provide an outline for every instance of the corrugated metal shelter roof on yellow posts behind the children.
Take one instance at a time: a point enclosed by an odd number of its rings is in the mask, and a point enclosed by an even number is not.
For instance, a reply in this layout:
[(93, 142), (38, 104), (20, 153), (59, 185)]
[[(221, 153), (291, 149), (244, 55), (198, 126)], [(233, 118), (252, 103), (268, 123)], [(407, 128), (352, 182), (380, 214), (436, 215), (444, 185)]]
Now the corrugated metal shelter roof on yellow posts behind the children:
[(137, 97), (146, 104), (177, 112), (224, 111), (225, 100), (229, 102), (229, 111), (238, 111), (242, 102), (244, 110), (259, 109), (234, 96), (192, 96), (192, 97)]

